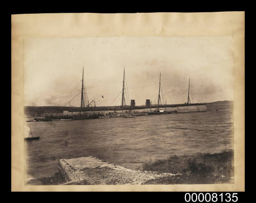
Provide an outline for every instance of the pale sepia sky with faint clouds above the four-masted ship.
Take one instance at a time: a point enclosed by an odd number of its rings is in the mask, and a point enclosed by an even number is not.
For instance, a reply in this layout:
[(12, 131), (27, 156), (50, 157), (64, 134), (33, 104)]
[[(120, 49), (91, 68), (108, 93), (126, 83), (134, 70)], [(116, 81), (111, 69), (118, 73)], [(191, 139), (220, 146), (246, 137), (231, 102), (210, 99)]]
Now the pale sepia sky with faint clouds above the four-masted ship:
[[(157, 102), (160, 72), (163, 103), (186, 102), (189, 77), (193, 103), (233, 100), (231, 36), (26, 38), (24, 105), (69, 106), (81, 92), (83, 68), (96, 106), (121, 104), (124, 68), (126, 95), (136, 105)], [(70, 105), (79, 106), (80, 97)]]

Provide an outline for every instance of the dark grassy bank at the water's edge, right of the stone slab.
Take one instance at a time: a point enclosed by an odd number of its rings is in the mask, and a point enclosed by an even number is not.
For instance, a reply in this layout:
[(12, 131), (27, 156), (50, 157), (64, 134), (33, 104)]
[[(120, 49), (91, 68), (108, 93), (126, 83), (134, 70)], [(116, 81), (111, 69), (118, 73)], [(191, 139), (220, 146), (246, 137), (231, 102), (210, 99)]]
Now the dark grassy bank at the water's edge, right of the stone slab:
[(143, 165), (144, 171), (173, 173), (145, 184), (220, 184), (230, 183), (234, 176), (233, 151), (170, 156)]

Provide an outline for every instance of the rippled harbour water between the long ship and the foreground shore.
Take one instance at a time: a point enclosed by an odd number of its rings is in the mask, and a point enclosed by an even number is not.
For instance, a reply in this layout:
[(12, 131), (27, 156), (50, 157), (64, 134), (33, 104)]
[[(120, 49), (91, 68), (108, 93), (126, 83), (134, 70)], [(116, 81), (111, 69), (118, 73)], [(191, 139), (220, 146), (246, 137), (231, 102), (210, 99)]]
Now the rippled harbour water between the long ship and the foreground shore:
[(39, 140), (25, 142), (26, 179), (58, 172), (60, 159), (96, 156), (139, 169), (170, 155), (233, 148), (233, 111), (25, 123)]

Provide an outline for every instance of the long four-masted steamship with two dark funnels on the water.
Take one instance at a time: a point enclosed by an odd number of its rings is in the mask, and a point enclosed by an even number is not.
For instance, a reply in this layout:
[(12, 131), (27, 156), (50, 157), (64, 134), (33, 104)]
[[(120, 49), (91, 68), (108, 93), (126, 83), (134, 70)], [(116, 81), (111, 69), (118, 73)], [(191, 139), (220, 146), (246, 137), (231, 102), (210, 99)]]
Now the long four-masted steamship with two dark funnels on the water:
[[(160, 89), (161, 89), (161, 72), (160, 72), (158, 100), (157, 100), (157, 104), (155, 104), (155, 105), (152, 105), (152, 103), (150, 102), (150, 109), (152, 109), (152, 110), (146, 110), (149, 108), (149, 106), (148, 107), (146, 107), (144, 105), (135, 106), (135, 102), (132, 105), (132, 101), (135, 101), (135, 100), (131, 100), (131, 108), (129, 107), (129, 105), (125, 104), (125, 102), (127, 100), (130, 101), (129, 93), (128, 93), (127, 89), (126, 89), (127, 92), (124, 91), (125, 90), (125, 81), (126, 81), (125, 69), (123, 69), (122, 91), (119, 93), (119, 95), (122, 93), (121, 106), (113, 106), (113, 107), (112, 106), (108, 106), (108, 107), (103, 106), (103, 107), (99, 107), (96, 112), (95, 111), (95, 109), (96, 109), (95, 99), (93, 99), (89, 103), (87, 92), (85, 90), (86, 88), (84, 88), (84, 85), (83, 85), (84, 76), (83, 76), (83, 69), (82, 69), (81, 92), (79, 92), (73, 98), (73, 99), (75, 99), (77, 96), (81, 96), (80, 106), (76, 107), (77, 111), (69, 112), (68, 110), (64, 110), (63, 115), (61, 115), (61, 116), (52, 116), (52, 115), (46, 114), (45, 118), (38, 117), (38, 118), (35, 118), (34, 121), (60, 121), (61, 119), (62, 120), (63, 119), (66, 119), (66, 120), (67, 119), (73, 119), (73, 120), (98, 119), (98, 118), (124, 117), (124, 116), (129, 116), (129, 115), (136, 117), (136, 116), (144, 116), (144, 115), (175, 114), (175, 113), (180, 113), (180, 112), (195, 112), (195, 111), (206, 111), (207, 110), (206, 103), (192, 103), (192, 99), (191, 99), (192, 97), (190, 98), (190, 78), (188, 80), (187, 102), (182, 103), (182, 104), (167, 104), (166, 105), (166, 101), (165, 101), (165, 104), (163, 104), (161, 101), (161, 97), (160, 97)], [(126, 88), (127, 88), (127, 81), (126, 81)], [(126, 99), (125, 99), (124, 95), (126, 93), (128, 94), (128, 97), (126, 95)], [(116, 98), (118, 98), (118, 96)], [(191, 94), (191, 96), (192, 96), (192, 94)], [(114, 101), (116, 100), (116, 98), (114, 99)], [(70, 102), (73, 99), (71, 99), (68, 103), (70, 104)], [(161, 101), (161, 104), (160, 104), (160, 101)], [(90, 106), (92, 104), (92, 102), (94, 102), (94, 109)], [(64, 106), (66, 106), (67, 104), (65, 104)], [(139, 109), (139, 110), (135, 111), (135, 109)], [(144, 109), (144, 110), (142, 110), (142, 109)], [(105, 112), (102, 112), (102, 114), (101, 114), (101, 111), (106, 111), (106, 110), (114, 110), (115, 112), (109, 113), (109, 114), (105, 114)], [(116, 110), (117, 110), (117, 112), (116, 112)], [(127, 112), (127, 110), (129, 110), (129, 112)], [(34, 116), (44, 116), (44, 114), (40, 114), (40, 115), (34, 114), (34, 115), (28, 115), (26, 117), (34, 117)]]

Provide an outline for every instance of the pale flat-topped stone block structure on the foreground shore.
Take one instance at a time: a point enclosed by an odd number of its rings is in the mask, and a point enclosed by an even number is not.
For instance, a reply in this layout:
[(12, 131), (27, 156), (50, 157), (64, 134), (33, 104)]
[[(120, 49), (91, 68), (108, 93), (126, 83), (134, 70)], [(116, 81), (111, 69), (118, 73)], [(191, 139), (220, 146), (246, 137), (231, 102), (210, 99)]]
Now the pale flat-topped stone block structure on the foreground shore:
[(59, 171), (65, 177), (62, 185), (123, 185), (144, 184), (151, 179), (168, 177), (172, 173), (135, 171), (87, 156), (59, 160)]

